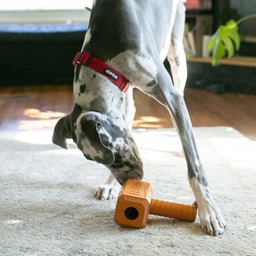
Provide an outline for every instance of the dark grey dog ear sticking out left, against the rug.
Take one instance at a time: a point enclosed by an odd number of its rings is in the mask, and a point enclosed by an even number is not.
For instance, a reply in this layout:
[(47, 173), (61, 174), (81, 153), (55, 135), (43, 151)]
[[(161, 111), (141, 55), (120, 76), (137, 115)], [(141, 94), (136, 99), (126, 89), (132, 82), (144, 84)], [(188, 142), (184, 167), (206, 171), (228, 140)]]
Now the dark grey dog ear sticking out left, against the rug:
[(68, 150), (67, 138), (71, 138), (70, 114), (58, 120), (54, 128), (54, 135), (52, 135), (52, 142)]

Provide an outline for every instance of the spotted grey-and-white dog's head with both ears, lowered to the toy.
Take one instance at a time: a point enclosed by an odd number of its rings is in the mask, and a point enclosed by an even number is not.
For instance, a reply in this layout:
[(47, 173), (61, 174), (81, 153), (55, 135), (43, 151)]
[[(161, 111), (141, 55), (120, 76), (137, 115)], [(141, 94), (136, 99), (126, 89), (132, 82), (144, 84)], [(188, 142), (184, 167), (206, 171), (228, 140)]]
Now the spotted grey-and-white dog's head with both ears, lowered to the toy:
[(87, 159), (108, 167), (118, 182), (143, 177), (138, 148), (124, 118), (113, 120), (74, 105), (71, 113), (57, 122), (52, 141), (68, 149), (67, 138), (73, 139)]

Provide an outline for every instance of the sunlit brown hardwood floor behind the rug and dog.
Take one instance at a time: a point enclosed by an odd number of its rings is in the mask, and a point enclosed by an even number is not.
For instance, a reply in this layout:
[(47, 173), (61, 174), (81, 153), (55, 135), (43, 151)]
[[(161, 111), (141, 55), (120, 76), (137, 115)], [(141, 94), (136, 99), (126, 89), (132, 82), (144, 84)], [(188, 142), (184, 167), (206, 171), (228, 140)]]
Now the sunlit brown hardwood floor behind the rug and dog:
[[(73, 106), (72, 86), (0, 88), (0, 131), (52, 130)], [(230, 126), (256, 140), (256, 95), (212, 94), (186, 89), (185, 102), (194, 127)], [(173, 127), (166, 108), (135, 90), (134, 128)]]

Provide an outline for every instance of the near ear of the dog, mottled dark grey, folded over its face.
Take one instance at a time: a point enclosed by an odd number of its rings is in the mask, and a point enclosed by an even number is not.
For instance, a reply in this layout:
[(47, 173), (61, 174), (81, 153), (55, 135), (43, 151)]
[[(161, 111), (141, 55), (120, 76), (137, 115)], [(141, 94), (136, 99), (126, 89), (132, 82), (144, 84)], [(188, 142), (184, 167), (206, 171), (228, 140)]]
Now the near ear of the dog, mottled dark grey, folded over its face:
[[(92, 147), (83, 147), (84, 154), (94, 159), (100, 164), (110, 165), (114, 162), (114, 154), (106, 145), (103, 144), (100, 137), (100, 124), (99, 121), (89, 116), (84, 116), (81, 119), (81, 128), (84, 135)], [(93, 150), (92, 150), (93, 148)]]

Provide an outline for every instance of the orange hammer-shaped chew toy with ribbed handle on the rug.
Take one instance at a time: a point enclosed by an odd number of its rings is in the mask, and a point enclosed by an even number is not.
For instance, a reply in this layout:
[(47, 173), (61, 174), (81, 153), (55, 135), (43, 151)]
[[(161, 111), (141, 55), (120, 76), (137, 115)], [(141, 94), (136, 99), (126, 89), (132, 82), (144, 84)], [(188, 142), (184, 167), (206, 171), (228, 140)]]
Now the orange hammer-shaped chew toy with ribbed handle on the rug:
[(153, 186), (140, 180), (126, 180), (116, 203), (114, 221), (130, 228), (144, 228), (148, 214), (194, 222), (196, 207), (152, 198)]

